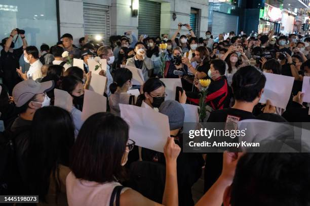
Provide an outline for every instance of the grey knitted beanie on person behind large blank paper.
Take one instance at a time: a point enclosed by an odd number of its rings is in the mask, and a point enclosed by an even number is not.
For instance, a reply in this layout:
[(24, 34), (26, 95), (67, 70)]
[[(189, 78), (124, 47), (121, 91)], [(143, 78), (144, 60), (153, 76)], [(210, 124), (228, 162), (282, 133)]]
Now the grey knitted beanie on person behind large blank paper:
[(170, 130), (180, 129), (183, 127), (184, 108), (176, 100), (164, 101), (159, 108), (159, 112), (168, 116)]

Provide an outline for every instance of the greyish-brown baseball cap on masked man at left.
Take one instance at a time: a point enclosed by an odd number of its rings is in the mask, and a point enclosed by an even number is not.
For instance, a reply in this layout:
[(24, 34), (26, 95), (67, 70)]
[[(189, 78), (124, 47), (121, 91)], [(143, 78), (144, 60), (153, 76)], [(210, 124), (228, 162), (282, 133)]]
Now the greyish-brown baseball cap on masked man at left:
[(19, 82), (13, 88), (13, 98), (16, 107), (25, 105), (35, 94), (41, 94), (47, 91), (51, 91), (54, 88), (54, 81), (36, 82), (32, 79), (28, 79)]

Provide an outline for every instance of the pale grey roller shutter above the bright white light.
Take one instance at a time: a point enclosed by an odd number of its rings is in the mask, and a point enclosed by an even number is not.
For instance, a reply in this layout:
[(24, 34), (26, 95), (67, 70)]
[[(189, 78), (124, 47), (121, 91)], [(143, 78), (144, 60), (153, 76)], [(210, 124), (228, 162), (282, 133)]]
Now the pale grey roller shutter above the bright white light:
[(110, 8), (96, 4), (83, 4), (85, 34), (102, 35), (104, 41), (110, 37)]

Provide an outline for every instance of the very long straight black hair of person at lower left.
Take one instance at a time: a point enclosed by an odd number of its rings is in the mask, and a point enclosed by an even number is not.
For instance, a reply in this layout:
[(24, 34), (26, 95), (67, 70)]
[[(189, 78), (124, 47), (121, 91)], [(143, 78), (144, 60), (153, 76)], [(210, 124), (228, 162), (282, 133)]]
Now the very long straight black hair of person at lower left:
[(46, 201), (51, 176), (56, 191), (60, 191), (59, 165), (69, 166), (73, 143), (74, 126), (66, 110), (50, 106), (35, 112), (29, 137), (27, 177), (31, 194), (38, 194), (41, 201)]

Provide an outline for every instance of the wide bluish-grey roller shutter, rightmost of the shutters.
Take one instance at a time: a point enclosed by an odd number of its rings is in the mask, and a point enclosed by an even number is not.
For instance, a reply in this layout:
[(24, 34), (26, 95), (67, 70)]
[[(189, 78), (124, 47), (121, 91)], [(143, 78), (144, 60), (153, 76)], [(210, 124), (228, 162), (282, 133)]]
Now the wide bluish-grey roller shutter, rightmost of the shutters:
[(212, 35), (218, 36), (220, 33), (235, 31), (237, 33), (238, 16), (224, 14), (213, 11)]

